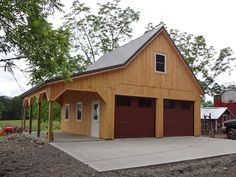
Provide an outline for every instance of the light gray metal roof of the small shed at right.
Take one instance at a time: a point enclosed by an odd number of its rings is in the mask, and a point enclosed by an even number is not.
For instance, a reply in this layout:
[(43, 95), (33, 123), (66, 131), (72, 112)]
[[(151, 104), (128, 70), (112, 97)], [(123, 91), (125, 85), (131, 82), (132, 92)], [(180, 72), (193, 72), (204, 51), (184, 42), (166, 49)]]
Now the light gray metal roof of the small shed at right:
[[(211, 119), (219, 119), (220, 116), (227, 110), (227, 107), (210, 107), (201, 108), (201, 119), (204, 119), (204, 115), (209, 116), (211, 114)], [(208, 118), (207, 118), (208, 119)]]

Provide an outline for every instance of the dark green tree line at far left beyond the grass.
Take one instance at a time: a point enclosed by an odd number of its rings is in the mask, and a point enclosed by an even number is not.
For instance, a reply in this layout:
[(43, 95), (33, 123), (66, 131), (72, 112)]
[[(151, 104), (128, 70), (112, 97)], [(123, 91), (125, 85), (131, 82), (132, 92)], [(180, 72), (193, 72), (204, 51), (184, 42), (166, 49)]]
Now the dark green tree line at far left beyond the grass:
[(0, 120), (21, 119), (22, 101), (20, 97), (0, 96)]

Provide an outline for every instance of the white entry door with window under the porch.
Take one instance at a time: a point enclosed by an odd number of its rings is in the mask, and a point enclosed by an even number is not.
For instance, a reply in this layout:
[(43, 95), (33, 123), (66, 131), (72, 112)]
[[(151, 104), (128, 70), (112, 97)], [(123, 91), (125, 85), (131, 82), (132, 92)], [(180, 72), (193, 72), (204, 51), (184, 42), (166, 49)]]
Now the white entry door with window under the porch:
[(100, 102), (92, 102), (91, 136), (99, 137)]

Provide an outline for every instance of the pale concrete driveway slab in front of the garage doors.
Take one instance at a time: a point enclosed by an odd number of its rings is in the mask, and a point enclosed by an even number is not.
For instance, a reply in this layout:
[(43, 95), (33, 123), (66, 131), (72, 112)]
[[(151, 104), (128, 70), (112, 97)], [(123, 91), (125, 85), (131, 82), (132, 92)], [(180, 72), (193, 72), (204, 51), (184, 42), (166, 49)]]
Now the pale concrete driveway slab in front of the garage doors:
[(236, 153), (236, 141), (207, 137), (54, 142), (97, 171), (158, 165)]

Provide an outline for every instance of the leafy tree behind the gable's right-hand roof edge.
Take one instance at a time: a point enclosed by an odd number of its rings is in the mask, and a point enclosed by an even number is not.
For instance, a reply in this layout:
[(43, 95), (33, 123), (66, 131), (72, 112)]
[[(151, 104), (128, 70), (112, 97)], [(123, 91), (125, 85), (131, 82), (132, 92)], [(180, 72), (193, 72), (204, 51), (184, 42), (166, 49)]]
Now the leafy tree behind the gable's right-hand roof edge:
[[(161, 24), (165, 26), (163, 22)], [(157, 26), (149, 23), (146, 32)], [(186, 32), (182, 33), (176, 29), (169, 30), (169, 34), (203, 86), (205, 93), (211, 96), (221, 94), (225, 87), (219, 85), (216, 78), (233, 70), (232, 63), (235, 58), (232, 56), (232, 49), (230, 47), (223, 48), (217, 55), (214, 47), (208, 46), (202, 35), (195, 36)]]

